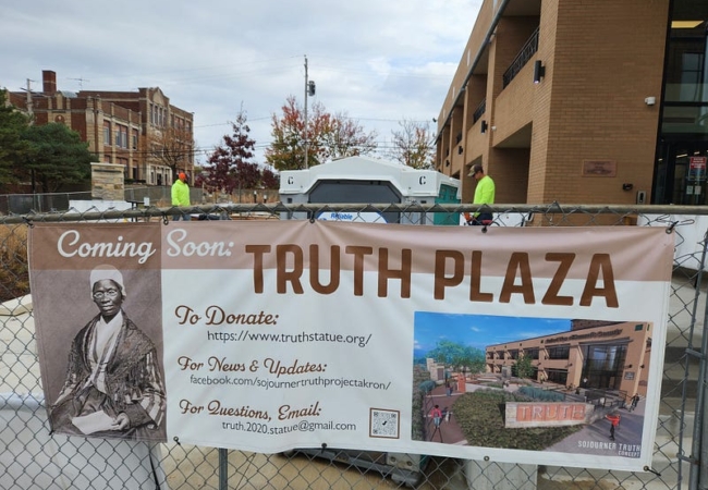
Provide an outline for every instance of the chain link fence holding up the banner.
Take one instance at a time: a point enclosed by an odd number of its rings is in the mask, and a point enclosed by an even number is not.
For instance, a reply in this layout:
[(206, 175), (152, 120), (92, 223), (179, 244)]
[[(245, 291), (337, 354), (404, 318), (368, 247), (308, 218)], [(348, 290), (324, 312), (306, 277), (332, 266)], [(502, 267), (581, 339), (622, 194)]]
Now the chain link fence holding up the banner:
[[(705, 489), (705, 207), (495, 206), (489, 226), (670, 226), (676, 233), (662, 394), (651, 467), (644, 473), (500, 464), (316, 448), (281, 454), (51, 434), (40, 385), (27, 277), (34, 222), (328, 219), (462, 223), (462, 205), (146, 206), (0, 216), (0, 489)], [(371, 219), (374, 217), (374, 219)], [(58, 285), (61, 286), (61, 285)], [(419, 382), (419, 380), (414, 380)], [(100, 457), (96, 457), (100, 455)]]

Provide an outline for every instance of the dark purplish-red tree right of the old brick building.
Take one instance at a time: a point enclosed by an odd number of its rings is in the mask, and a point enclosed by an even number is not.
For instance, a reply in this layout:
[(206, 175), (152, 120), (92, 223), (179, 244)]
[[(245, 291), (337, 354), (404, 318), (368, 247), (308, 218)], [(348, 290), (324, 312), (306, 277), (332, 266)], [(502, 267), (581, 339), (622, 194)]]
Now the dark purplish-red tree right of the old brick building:
[(204, 185), (209, 192), (231, 194), (236, 188), (254, 188), (260, 183), (258, 164), (251, 161), (256, 142), (249, 136), (251, 127), (243, 109), (231, 128), (233, 134), (223, 136), (223, 144), (215, 148), (196, 180), (197, 185)]

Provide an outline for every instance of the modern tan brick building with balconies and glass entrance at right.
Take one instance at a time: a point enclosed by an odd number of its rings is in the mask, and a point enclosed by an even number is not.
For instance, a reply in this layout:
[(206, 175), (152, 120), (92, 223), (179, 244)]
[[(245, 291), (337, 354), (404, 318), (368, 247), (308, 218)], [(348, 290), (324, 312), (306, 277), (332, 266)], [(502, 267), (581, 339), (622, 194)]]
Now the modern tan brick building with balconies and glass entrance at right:
[(708, 2), (485, 0), (438, 117), (471, 203), (705, 205)]

